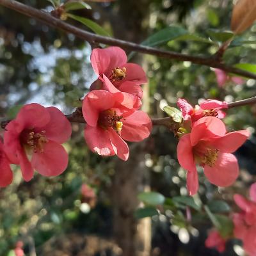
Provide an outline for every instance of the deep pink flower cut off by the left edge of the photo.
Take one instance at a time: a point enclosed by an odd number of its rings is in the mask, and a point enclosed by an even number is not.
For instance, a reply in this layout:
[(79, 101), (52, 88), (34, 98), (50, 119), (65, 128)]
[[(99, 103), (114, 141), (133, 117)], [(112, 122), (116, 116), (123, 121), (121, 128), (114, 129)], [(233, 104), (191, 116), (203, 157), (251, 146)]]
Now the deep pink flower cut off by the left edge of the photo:
[(13, 174), (10, 168), (10, 160), (4, 152), (4, 145), (0, 138), (0, 187), (6, 187), (12, 183)]

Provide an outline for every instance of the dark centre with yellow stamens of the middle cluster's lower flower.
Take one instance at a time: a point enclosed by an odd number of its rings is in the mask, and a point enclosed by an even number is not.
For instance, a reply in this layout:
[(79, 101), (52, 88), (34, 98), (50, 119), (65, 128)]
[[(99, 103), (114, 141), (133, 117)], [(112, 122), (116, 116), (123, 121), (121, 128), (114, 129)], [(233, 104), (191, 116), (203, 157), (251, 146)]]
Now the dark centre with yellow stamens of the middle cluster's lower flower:
[(111, 127), (115, 131), (120, 132), (123, 126), (123, 122), (120, 121), (122, 118), (123, 116), (116, 115), (116, 111), (109, 109), (100, 113), (98, 124), (103, 129)]

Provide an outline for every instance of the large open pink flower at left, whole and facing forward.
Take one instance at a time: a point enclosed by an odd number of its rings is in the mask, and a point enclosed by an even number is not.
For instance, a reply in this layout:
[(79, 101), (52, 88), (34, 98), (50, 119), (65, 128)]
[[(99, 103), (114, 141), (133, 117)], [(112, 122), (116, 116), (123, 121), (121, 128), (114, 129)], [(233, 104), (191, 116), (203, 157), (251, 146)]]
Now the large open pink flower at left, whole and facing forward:
[(13, 164), (20, 164), (24, 180), (34, 169), (44, 176), (60, 175), (68, 164), (68, 155), (60, 145), (68, 140), (71, 125), (60, 110), (32, 103), (22, 107), (6, 126), (4, 148)]

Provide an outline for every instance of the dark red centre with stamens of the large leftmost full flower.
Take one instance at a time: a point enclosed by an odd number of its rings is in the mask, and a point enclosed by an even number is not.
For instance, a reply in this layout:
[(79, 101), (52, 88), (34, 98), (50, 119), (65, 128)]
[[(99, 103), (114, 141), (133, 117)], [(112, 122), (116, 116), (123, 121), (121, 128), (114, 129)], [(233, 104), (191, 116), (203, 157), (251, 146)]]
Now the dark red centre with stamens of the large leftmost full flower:
[(21, 143), (33, 152), (44, 152), (44, 145), (48, 142), (45, 131), (35, 132), (35, 128), (25, 130), (20, 135)]

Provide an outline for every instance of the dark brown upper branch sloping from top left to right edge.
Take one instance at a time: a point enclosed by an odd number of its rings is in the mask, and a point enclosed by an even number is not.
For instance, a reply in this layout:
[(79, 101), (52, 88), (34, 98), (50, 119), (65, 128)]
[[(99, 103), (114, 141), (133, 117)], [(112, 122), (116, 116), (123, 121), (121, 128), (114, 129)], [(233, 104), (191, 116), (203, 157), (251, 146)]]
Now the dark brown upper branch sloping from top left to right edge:
[(0, 4), (12, 10), (15, 10), (17, 12), (23, 13), (24, 15), (27, 15), (29, 17), (33, 17), (36, 20), (40, 20), (45, 24), (48, 24), (49, 26), (61, 29), (63, 31), (66, 31), (67, 33), (72, 33), (73, 35), (76, 35), (77, 37), (83, 40), (86, 40), (90, 43), (94, 42), (94, 43), (101, 43), (106, 45), (116, 45), (124, 49), (127, 49), (128, 51), (142, 52), (145, 54), (151, 54), (154, 56), (169, 58), (169, 59), (178, 60), (178, 61), (191, 61), (192, 63), (198, 64), (198, 65), (205, 65), (208, 67), (220, 68), (221, 70), (224, 70), (225, 72), (228, 72), (228, 73), (256, 79), (256, 74), (241, 70), (239, 68), (225, 65), (220, 61), (216, 60), (214, 56), (192, 56), (189, 54), (181, 54), (178, 52), (163, 51), (153, 47), (147, 47), (144, 45), (134, 44), (132, 42), (127, 42), (124, 40), (118, 40), (108, 36), (95, 35), (88, 31), (84, 31), (83, 29), (76, 28), (75, 26), (72, 26), (60, 19), (57, 19), (47, 12), (44, 12), (42, 10), (37, 10), (31, 6), (27, 6), (26, 4), (19, 3), (15, 0), (0, 0)]

